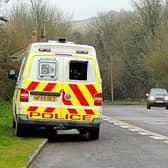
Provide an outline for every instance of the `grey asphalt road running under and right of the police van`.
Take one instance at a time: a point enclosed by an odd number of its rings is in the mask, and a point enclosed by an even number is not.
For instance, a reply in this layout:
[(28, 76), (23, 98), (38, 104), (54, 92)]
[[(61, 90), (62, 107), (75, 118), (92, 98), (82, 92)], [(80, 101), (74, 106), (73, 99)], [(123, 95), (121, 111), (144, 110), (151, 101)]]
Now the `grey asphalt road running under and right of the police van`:
[(98, 141), (87, 141), (73, 131), (60, 134), (30, 167), (168, 167), (168, 110), (113, 105), (104, 106), (104, 115)]

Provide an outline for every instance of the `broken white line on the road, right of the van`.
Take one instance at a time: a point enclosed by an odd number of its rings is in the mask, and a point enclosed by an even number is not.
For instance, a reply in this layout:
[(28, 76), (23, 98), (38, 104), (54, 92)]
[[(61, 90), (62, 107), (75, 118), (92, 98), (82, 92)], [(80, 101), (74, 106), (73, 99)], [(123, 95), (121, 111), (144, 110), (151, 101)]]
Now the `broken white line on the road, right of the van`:
[[(103, 118), (104, 118), (104, 120), (106, 120), (110, 123), (113, 123), (114, 125), (120, 126), (121, 128), (127, 128), (129, 131), (137, 132), (140, 135), (147, 135), (148, 137), (155, 139), (155, 140), (163, 140), (164, 143), (168, 144), (168, 137), (167, 136), (143, 129), (141, 127), (137, 127), (132, 124), (128, 124), (126, 122), (121, 121), (122, 119), (121, 118), (119, 119), (119, 117), (114, 118), (114, 117), (103, 116)], [(167, 120), (164, 120), (164, 121), (167, 121)]]

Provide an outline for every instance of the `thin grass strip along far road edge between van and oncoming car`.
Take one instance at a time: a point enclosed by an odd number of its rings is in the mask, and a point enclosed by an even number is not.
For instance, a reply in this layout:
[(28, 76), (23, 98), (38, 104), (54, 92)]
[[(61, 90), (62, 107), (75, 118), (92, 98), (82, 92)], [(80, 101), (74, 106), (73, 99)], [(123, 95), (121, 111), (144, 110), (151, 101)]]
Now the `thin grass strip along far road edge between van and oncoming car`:
[(104, 101), (106, 105), (145, 105), (145, 100)]

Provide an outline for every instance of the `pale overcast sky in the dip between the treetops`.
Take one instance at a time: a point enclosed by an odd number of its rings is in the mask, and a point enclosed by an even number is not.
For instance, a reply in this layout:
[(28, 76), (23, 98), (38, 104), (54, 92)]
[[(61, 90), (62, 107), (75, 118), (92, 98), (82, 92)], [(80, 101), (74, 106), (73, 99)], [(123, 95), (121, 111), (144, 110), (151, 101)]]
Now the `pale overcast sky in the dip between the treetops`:
[(65, 13), (72, 14), (73, 20), (96, 16), (98, 12), (121, 9), (132, 10), (132, 0), (49, 0)]

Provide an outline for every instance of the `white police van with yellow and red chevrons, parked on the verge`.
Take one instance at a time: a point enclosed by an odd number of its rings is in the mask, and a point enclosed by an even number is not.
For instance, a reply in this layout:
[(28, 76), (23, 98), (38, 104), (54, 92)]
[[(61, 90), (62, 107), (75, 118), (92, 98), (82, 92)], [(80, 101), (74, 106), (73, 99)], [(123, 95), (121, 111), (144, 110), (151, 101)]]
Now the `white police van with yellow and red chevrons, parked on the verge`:
[(102, 86), (94, 47), (58, 41), (32, 43), (26, 50), (13, 96), (13, 128), (26, 136), (29, 128), (77, 129), (98, 139)]

